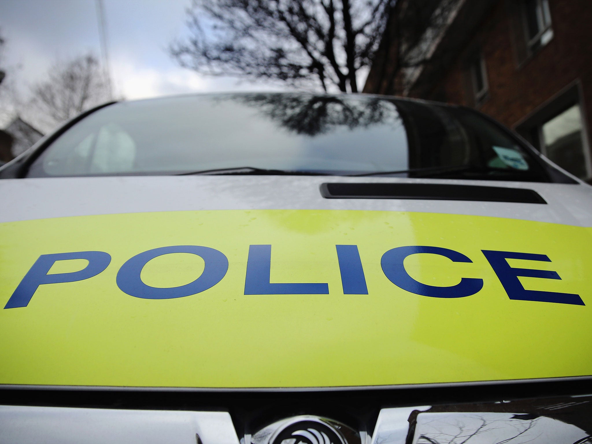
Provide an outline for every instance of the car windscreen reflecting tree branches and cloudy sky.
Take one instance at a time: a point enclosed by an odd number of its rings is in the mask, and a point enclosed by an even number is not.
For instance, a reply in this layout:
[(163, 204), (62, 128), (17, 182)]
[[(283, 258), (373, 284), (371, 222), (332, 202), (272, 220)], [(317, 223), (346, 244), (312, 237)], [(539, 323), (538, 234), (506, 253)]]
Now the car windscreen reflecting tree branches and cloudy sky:
[(470, 110), (313, 94), (179, 96), (110, 105), (54, 140), (27, 176), (239, 173), (236, 168), (548, 181), (517, 140)]

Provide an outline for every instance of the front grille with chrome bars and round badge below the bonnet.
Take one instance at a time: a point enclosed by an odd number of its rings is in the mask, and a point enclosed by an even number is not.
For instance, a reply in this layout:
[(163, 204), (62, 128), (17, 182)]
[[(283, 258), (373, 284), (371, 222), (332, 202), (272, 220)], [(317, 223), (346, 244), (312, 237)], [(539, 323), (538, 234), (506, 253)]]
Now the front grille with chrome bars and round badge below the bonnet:
[(0, 401), (0, 443), (592, 444), (588, 378), (326, 390), (8, 387)]

